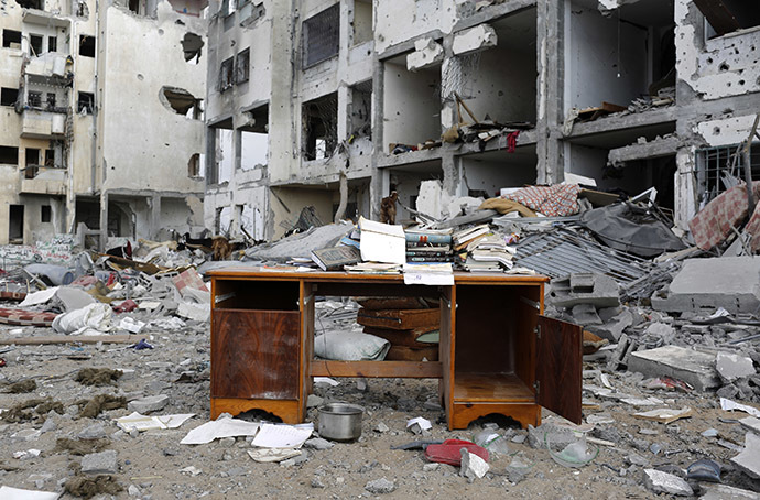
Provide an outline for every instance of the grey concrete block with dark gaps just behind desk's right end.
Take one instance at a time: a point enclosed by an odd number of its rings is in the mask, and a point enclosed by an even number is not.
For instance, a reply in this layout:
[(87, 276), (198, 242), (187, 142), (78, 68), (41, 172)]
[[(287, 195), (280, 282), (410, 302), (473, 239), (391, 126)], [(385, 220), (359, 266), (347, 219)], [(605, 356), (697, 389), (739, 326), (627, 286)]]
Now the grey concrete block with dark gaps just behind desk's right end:
[(615, 307), (620, 304), (618, 284), (611, 278), (597, 273), (573, 273), (562, 280), (553, 280), (546, 298), (555, 307), (578, 304)]

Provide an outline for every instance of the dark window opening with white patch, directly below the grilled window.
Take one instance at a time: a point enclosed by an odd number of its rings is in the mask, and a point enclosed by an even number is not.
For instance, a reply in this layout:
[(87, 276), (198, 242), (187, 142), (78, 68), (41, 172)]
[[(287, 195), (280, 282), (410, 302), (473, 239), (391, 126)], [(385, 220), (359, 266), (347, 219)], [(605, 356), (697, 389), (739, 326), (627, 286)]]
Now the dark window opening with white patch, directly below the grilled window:
[(338, 143), (338, 95), (328, 94), (303, 105), (306, 160), (329, 157)]

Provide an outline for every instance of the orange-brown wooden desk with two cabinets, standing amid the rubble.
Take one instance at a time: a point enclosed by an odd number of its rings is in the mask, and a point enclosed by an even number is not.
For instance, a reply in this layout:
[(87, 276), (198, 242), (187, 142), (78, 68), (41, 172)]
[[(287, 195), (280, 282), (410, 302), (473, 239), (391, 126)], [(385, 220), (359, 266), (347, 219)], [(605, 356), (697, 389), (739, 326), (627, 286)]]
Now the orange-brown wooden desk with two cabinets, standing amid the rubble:
[[(539, 425), (541, 406), (580, 422), (583, 331), (541, 315), (544, 276), (455, 273), (452, 286), (423, 286), (387, 274), (209, 274), (211, 419), (257, 409), (303, 422), (312, 377), (323, 376), (439, 379), (449, 428), (492, 413)], [(438, 297), (439, 361), (314, 360), (317, 295)]]

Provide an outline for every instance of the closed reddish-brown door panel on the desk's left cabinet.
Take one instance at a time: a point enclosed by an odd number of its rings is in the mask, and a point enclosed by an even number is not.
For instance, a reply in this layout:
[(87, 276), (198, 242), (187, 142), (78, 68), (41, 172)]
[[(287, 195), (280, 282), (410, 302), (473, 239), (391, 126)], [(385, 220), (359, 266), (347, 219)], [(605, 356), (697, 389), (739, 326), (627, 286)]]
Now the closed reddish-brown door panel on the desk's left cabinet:
[(214, 309), (211, 396), (297, 399), (297, 311)]

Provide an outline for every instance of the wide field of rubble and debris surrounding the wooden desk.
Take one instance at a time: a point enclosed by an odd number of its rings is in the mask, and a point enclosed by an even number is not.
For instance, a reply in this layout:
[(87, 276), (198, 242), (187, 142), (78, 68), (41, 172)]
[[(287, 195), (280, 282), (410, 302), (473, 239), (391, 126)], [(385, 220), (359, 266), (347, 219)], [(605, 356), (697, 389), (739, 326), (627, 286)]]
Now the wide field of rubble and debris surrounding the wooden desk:
[[(730, 214), (738, 231), (710, 235), (706, 247), (652, 199), (600, 203), (589, 192), (507, 189), (402, 225), (313, 227), (225, 251), (227, 260), (211, 260), (200, 240), (115, 241), (98, 253), (63, 248), (73, 239), (61, 237), (50, 260), (3, 249), (15, 257), (0, 276), (0, 498), (19, 489), (146, 499), (493, 488), (531, 498), (759, 498), (760, 264), (751, 244), (736, 243), (749, 210)], [(335, 248), (347, 250), (323, 251)], [(415, 285), (450, 283), (454, 272), (547, 275), (544, 314), (584, 330), (584, 422), (544, 413), (540, 427), (521, 430), (489, 416), (449, 432), (434, 380), (324, 377), (314, 379), (306, 424), (271, 425), (258, 412), (209, 421), (204, 274), (234, 265), (401, 273)], [(316, 297), (315, 351), (436, 360), (442, 303), (430, 289)], [(313, 422), (330, 402), (363, 409), (358, 439), (319, 436)]]

